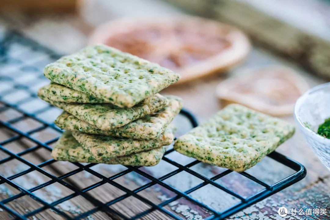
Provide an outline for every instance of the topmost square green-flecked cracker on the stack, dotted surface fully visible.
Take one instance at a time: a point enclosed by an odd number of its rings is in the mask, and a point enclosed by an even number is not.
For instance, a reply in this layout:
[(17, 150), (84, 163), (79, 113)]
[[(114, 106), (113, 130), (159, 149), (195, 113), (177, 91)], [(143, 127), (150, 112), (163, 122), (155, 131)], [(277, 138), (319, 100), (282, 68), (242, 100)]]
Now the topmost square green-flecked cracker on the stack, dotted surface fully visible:
[(131, 108), (177, 82), (180, 75), (147, 60), (105, 45), (88, 46), (47, 65), (53, 82), (104, 102)]

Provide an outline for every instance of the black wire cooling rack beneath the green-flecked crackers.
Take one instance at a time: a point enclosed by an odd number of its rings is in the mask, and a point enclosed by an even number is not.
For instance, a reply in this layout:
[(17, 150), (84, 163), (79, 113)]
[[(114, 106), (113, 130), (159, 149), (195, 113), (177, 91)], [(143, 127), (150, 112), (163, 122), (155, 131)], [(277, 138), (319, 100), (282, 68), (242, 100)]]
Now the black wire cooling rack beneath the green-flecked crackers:
[[(15, 54), (20, 54), (20, 55), (15, 56)], [(230, 170), (225, 170), (211, 178), (208, 178), (208, 177), (204, 176), (203, 174), (197, 173), (193, 169), (190, 169), (192, 166), (195, 166), (196, 164), (200, 163), (197, 160), (195, 160), (187, 165), (181, 165), (180, 163), (177, 163), (174, 160), (169, 159), (166, 155), (173, 152), (173, 148), (168, 150), (165, 153), (165, 156), (163, 157), (162, 160), (175, 166), (176, 170), (174, 170), (170, 173), (167, 173), (167, 174), (161, 176), (160, 178), (153, 177), (149, 173), (144, 172), (143, 170), (139, 169), (139, 167), (130, 167), (130, 166), (127, 166), (126, 167), (127, 169), (122, 172), (116, 173), (115, 175), (110, 176), (110, 177), (106, 177), (91, 169), (91, 167), (94, 166), (95, 164), (83, 165), (80, 163), (74, 163), (78, 168), (69, 173), (65, 173), (60, 176), (53, 175), (52, 173), (49, 173), (48, 171), (43, 169), (44, 167), (53, 164), (55, 162), (53, 159), (49, 159), (40, 164), (33, 164), (33, 163), (29, 162), (28, 160), (24, 159), (23, 156), (28, 153), (35, 152), (36, 150), (38, 150), (40, 148), (46, 149), (47, 151), (49, 151), (49, 154), (50, 154), (51, 147), (49, 145), (54, 143), (57, 140), (57, 138), (44, 142), (44, 141), (39, 141), (36, 138), (33, 138), (33, 134), (36, 132), (42, 131), (46, 128), (51, 128), (58, 132), (61, 132), (61, 130), (58, 127), (56, 127), (52, 122), (48, 122), (47, 120), (44, 120), (44, 119), (41, 119), (38, 117), (38, 115), (40, 113), (45, 112), (45, 111), (50, 110), (51, 108), (55, 108), (55, 107), (52, 107), (47, 104), (45, 107), (42, 107), (41, 109), (38, 109), (38, 110), (26, 110), (26, 109), (21, 108), (21, 106), (24, 105), (25, 103), (32, 102), (33, 100), (38, 99), (36, 96), (36, 90), (40, 87), (41, 84), (47, 83), (47, 82), (43, 81), (43, 80), (45, 80), (45, 78), (42, 74), (42, 69), (47, 63), (57, 59), (58, 57), (59, 57), (59, 54), (56, 54), (52, 50), (50, 50), (46, 47), (43, 47), (43, 46), (39, 45), (38, 43), (36, 43), (24, 36), (21, 36), (17, 33), (14, 33), (14, 32), (6, 32), (1, 41), (1, 45), (0, 45), (0, 79), (1, 79), (0, 80), (0, 82), (1, 82), (1, 84), (0, 84), (0, 101), (1, 101), (0, 113), (4, 112), (6, 110), (9, 110), (9, 109), (14, 109), (14, 110), (17, 110), (18, 112), (20, 112), (21, 115), (14, 117), (10, 120), (0, 120), (0, 128), (1, 127), (6, 128), (6, 129), (10, 130), (12, 133), (14, 133), (14, 135), (12, 137), (2, 140), (0, 142), (0, 152), (8, 155), (8, 157), (5, 157), (4, 159), (0, 160), (0, 167), (4, 163), (11, 161), (11, 160), (18, 160), (19, 163), (25, 164), (29, 167), (28, 169), (26, 169), (24, 171), (21, 171), (19, 173), (16, 173), (16, 174), (13, 174), (13, 175), (10, 175), (7, 177), (5, 177), (4, 175), (0, 175), (0, 186), (1, 186), (1, 184), (8, 184), (11, 187), (20, 191), (18, 194), (9, 196), (8, 198), (5, 198), (2, 201), (0, 201), (0, 208), (7, 211), (15, 219), (31, 219), (31, 217), (33, 217), (35, 214), (40, 213), (46, 209), (53, 210), (54, 212), (56, 212), (58, 215), (62, 216), (62, 218), (65, 218), (65, 219), (82, 219), (82, 218), (88, 217), (89, 215), (91, 215), (97, 211), (105, 211), (108, 213), (110, 212), (119, 219), (141, 219), (148, 213), (155, 211), (155, 210), (163, 212), (165, 215), (168, 216), (169, 219), (183, 219), (182, 215), (179, 215), (179, 214), (171, 211), (170, 209), (165, 208), (166, 205), (168, 205), (174, 201), (177, 201), (180, 198), (184, 198), (185, 200), (189, 201), (192, 204), (199, 206), (202, 210), (209, 213), (208, 216), (206, 216), (206, 219), (208, 219), (208, 220), (223, 219), (225, 217), (228, 217), (228, 216), (238, 212), (239, 210), (242, 210), (252, 204), (257, 203), (258, 201), (261, 201), (261, 200), (275, 194), (276, 192), (279, 192), (280, 190), (292, 185), (295, 182), (298, 182), (299, 180), (304, 178), (306, 175), (306, 170), (305, 170), (304, 166), (293, 161), (292, 159), (290, 159), (288, 157), (281, 155), (280, 153), (273, 152), (270, 155), (268, 155), (268, 157), (272, 158), (273, 160), (277, 161), (278, 163), (280, 163), (288, 168), (291, 168), (294, 171), (294, 173), (291, 175), (288, 175), (287, 177), (283, 178), (282, 180), (280, 180), (274, 184), (268, 184), (268, 183), (258, 179), (257, 177), (252, 176), (251, 174), (242, 172), (242, 173), (240, 173), (241, 175), (247, 177), (249, 180), (251, 180), (251, 181), (255, 182), (256, 184), (259, 184), (260, 186), (263, 187), (262, 190), (259, 190), (258, 192), (254, 193), (253, 195), (250, 195), (248, 197), (243, 197), (243, 196), (239, 195), (238, 193), (234, 192), (233, 190), (226, 188), (225, 186), (216, 182), (216, 180), (218, 180), (230, 173), (234, 173), (234, 172), (232, 172)], [(24, 77), (27, 77), (27, 76), (33, 77), (32, 84), (25, 83), (27, 80), (25, 80)], [(16, 96), (11, 96), (11, 94), (17, 93), (17, 91), (23, 91), (23, 92), (16, 94)], [(17, 97), (17, 96), (20, 98), (18, 101), (13, 99), (13, 97)], [(194, 116), (191, 115), (188, 111), (182, 110), (180, 113), (190, 121), (190, 123), (193, 127), (197, 126), (197, 122), (196, 122)], [(13, 125), (14, 123), (17, 123), (17, 122), (27, 119), (27, 118), (32, 118), (32, 119), (40, 122), (42, 125), (40, 127), (37, 127), (35, 129), (29, 130), (29, 131), (21, 131), (19, 128), (15, 127)], [(17, 141), (21, 138), (26, 138), (26, 139), (34, 142), (35, 146), (27, 148), (18, 153), (14, 152), (10, 148), (6, 147), (7, 144), (10, 144), (11, 142)], [(67, 163), (69, 163), (69, 162), (67, 162)], [(83, 189), (80, 189), (78, 187), (75, 187), (72, 184), (68, 184), (66, 181), (63, 180), (69, 176), (75, 175), (82, 171), (88, 172), (91, 175), (94, 175), (94, 176), (100, 178), (101, 181), (94, 183), (92, 185), (89, 185), (88, 187), (85, 187)], [(39, 184), (37, 186), (34, 186), (32, 188), (29, 188), (29, 189), (25, 189), (24, 187), (18, 185), (17, 183), (15, 183), (13, 181), (16, 178), (23, 176), (30, 172), (39, 172), (39, 173), (49, 177), (50, 180), (46, 181), (42, 184)], [(134, 190), (130, 190), (114, 181), (115, 179), (117, 179), (127, 173), (130, 173), (130, 172), (136, 172), (136, 173), (140, 174), (144, 178), (148, 179), (149, 183), (147, 183), (141, 187), (138, 187)], [(201, 180), (201, 183), (195, 185), (192, 188), (189, 188), (188, 190), (181, 191), (164, 182), (164, 180), (166, 180), (178, 173), (181, 173), (181, 172), (187, 172), (187, 173), (199, 178)], [(182, 181), (185, 181), (185, 180), (182, 179)], [(50, 203), (45, 201), (43, 198), (38, 197), (37, 194), (34, 193), (35, 191), (37, 191), (39, 189), (43, 189), (44, 187), (49, 186), (50, 184), (53, 184), (53, 183), (59, 183), (59, 184), (63, 185), (63, 187), (67, 187), (70, 190), (72, 190), (73, 193), (69, 194), (61, 199), (52, 201)], [(95, 199), (94, 197), (92, 197), (86, 193), (86, 192), (93, 190), (106, 183), (109, 183), (109, 184), (115, 186), (116, 188), (122, 190), (125, 194), (122, 196), (119, 196), (109, 202), (101, 202), (100, 200)], [(166, 190), (173, 192), (176, 196), (173, 196), (172, 198), (168, 198), (165, 201), (161, 202), (160, 204), (155, 204), (155, 203), (151, 202), (150, 200), (148, 200), (138, 194), (139, 192), (141, 192), (145, 189), (148, 189), (149, 187), (156, 185), (156, 184), (165, 188)], [(225, 210), (219, 211), (219, 210), (215, 210), (211, 206), (203, 204), (201, 201), (198, 201), (197, 199), (194, 199), (191, 195), (189, 195), (190, 193), (192, 193), (204, 186), (207, 186), (207, 185), (212, 185), (212, 186), (226, 192), (227, 194), (237, 198), (239, 200), (239, 202)], [(34, 210), (30, 210), (27, 213), (21, 213), (7, 205), (10, 202), (15, 201), (16, 199), (21, 198), (23, 196), (31, 197), (33, 200), (40, 203), (41, 206)], [(68, 201), (77, 196), (82, 196), (83, 198), (85, 198), (86, 200), (91, 202), (94, 205), (94, 207), (88, 211), (82, 212), (79, 215), (72, 217), (72, 216), (68, 215), (65, 211), (58, 208), (58, 206), (56, 206), (58, 204), (61, 204), (65, 201)], [(141, 211), (140, 213), (136, 214), (133, 217), (128, 218), (120, 211), (115, 210), (112, 207), (110, 207), (111, 205), (116, 204), (128, 197), (134, 197), (134, 198), (142, 201), (143, 203), (149, 205), (150, 208), (148, 208), (147, 210)]]

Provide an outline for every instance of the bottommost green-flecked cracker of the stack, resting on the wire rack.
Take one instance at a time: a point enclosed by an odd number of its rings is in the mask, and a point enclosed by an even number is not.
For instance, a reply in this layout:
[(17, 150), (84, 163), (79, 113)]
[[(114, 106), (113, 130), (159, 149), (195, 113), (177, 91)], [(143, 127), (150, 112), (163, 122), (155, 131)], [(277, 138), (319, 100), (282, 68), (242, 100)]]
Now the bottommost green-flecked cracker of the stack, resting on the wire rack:
[(96, 160), (92, 154), (84, 149), (72, 136), (70, 131), (65, 131), (54, 146), (51, 156), (55, 160), (81, 163), (122, 164), (128, 166), (155, 166), (159, 163), (166, 151), (166, 146), (132, 153), (127, 156), (112, 158), (111, 160)]

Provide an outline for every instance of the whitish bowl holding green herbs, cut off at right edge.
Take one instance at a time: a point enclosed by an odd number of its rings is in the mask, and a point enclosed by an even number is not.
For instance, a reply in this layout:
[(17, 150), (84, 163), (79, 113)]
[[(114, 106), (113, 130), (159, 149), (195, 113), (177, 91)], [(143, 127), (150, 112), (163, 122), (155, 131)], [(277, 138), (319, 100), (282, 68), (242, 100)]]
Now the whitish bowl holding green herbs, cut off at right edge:
[(321, 162), (330, 170), (330, 139), (318, 135), (317, 128), (330, 117), (330, 82), (308, 90), (296, 102), (294, 118), (299, 130)]

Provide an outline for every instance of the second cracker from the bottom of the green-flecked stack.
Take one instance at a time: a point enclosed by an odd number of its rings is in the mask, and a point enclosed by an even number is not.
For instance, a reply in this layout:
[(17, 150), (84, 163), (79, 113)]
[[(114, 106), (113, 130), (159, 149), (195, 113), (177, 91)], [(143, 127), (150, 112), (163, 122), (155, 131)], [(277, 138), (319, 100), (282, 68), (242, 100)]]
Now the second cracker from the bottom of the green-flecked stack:
[(158, 139), (153, 140), (115, 138), (111, 136), (91, 135), (78, 131), (72, 132), (72, 135), (85, 149), (89, 150), (96, 160), (107, 160), (167, 146), (174, 140), (174, 135), (170, 129), (166, 129)]

